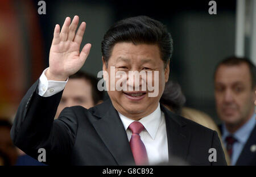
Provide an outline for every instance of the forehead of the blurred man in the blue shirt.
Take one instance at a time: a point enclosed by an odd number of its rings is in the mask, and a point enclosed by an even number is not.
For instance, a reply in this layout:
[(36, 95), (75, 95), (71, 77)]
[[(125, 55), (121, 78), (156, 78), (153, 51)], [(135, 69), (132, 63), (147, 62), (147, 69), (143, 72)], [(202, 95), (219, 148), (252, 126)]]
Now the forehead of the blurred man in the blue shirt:
[(216, 71), (214, 81), (227, 85), (235, 82), (250, 84), (251, 75), (249, 67), (246, 64), (234, 66), (221, 65)]

